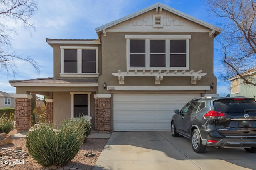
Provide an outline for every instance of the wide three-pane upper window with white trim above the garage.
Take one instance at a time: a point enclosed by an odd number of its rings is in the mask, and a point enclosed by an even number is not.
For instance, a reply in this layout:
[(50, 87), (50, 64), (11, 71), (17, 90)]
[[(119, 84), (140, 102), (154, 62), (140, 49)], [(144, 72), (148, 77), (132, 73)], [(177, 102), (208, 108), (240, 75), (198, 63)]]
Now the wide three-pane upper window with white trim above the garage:
[(188, 70), (191, 35), (125, 35), (128, 70)]

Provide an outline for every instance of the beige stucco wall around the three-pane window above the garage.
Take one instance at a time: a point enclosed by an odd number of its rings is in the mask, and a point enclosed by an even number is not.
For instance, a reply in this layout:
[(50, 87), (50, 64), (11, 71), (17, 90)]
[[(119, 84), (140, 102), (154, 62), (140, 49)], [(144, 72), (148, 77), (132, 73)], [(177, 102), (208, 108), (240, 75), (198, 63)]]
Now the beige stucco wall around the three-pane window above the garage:
[[(189, 40), (189, 70), (202, 70), (207, 73), (196, 85), (191, 85), (190, 77), (164, 77), (161, 84), (155, 84), (154, 77), (125, 77), (125, 84), (119, 84), (118, 77), (111, 73), (126, 72), (126, 39), (125, 35), (191, 35)], [(102, 76), (99, 77), (99, 93), (109, 93), (102, 88), (108, 86), (210, 86), (216, 83), (213, 74), (213, 37), (209, 33), (110, 33), (101, 37), (102, 41)], [(148, 70), (150, 71), (150, 70)], [(163, 70), (162, 70), (163, 71)], [(171, 70), (170, 70), (171, 71)], [(178, 70), (179, 72), (182, 70)], [(154, 71), (157, 72), (157, 71)], [(216, 94), (214, 89), (207, 94)]]

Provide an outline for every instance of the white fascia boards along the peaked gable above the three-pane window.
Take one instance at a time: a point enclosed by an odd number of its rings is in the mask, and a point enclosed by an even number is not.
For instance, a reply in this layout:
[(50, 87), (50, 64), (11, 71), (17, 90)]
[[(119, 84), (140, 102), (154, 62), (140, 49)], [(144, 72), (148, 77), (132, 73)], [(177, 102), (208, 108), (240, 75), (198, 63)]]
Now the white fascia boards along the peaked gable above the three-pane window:
[(129, 20), (131, 18), (134, 18), (136, 16), (139, 16), (140, 14), (143, 14), (145, 12), (153, 10), (153, 9), (155, 9), (157, 7), (162, 7), (164, 10), (167, 10), (167, 11), (173, 13), (173, 14), (176, 14), (177, 16), (180, 16), (180, 17), (185, 18), (187, 20), (193, 21), (194, 23), (198, 23), (199, 25), (202, 25), (202, 26), (207, 27), (209, 29), (216, 30), (218, 33), (220, 33), (222, 31), (222, 29), (219, 28), (219, 27), (216, 27), (216, 26), (214, 26), (214, 25), (212, 25), (210, 23), (207, 23), (205, 21), (199, 20), (199, 19), (197, 19), (197, 18), (195, 18), (193, 16), (190, 16), (188, 14), (185, 14), (184, 12), (175, 10), (174, 8), (171, 8), (170, 6), (167, 6), (167, 5), (164, 5), (164, 4), (161, 4), (161, 3), (153, 4), (153, 5), (151, 5), (151, 6), (147, 7), (147, 8), (139, 10), (138, 12), (134, 12), (133, 14), (130, 14), (130, 15), (122, 17), (122, 18), (120, 18), (118, 20), (115, 20), (115, 21), (112, 21), (110, 23), (107, 23), (107, 24), (105, 24), (105, 25), (103, 25), (101, 27), (98, 27), (95, 30), (98, 33), (100, 31), (102, 31), (103, 29), (108, 29), (109, 27), (117, 25), (118, 23), (124, 22), (124, 21)]

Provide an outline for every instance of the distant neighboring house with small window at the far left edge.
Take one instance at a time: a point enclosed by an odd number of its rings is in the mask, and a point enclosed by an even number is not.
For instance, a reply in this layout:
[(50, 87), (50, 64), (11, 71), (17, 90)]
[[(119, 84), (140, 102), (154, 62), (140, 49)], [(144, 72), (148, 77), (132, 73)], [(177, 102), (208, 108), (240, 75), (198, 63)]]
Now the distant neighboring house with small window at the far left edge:
[(0, 108), (15, 108), (15, 98), (13, 95), (14, 94), (0, 91)]

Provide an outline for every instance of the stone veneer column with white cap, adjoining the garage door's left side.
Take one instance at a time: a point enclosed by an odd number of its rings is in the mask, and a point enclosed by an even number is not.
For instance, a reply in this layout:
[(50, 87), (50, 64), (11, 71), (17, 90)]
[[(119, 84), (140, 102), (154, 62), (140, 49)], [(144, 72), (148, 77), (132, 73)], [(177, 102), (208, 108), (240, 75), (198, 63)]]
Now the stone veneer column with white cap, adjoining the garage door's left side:
[(110, 131), (111, 94), (95, 94), (95, 129)]

